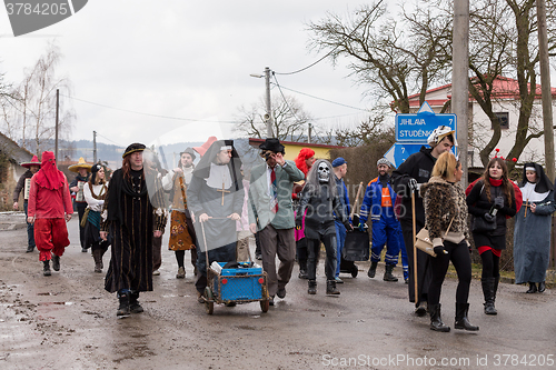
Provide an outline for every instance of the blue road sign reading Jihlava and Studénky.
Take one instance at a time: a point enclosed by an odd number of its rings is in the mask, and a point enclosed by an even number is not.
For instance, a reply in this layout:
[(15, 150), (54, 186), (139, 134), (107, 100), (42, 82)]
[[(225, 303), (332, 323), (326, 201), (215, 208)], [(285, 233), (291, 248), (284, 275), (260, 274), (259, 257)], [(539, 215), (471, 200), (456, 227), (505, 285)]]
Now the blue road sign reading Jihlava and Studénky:
[(457, 131), (456, 114), (436, 114), (425, 102), (417, 114), (396, 114), (396, 141), (426, 143), (433, 130), (439, 126)]

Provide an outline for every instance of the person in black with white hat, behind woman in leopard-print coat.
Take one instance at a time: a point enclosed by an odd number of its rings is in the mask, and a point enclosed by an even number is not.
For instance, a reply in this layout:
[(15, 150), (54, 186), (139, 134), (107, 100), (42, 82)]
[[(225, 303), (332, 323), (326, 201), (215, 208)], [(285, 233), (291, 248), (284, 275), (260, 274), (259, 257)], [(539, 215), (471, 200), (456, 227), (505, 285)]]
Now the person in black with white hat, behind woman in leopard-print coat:
[(416, 231), (418, 232), (425, 227), (425, 208), (423, 207), (423, 199), (418, 196), (418, 190), (420, 184), (430, 179), (436, 159), (440, 157), (441, 153), (451, 150), (451, 147), (457, 146), (454, 133), (455, 131), (446, 126), (436, 128), (427, 140), (430, 148), (421, 147), (419, 152), (409, 156), (406, 161), (391, 173), (390, 179), (394, 191), (401, 197), (399, 221), (401, 223), (404, 242), (406, 244), (407, 258), (409, 261), (409, 301), (415, 302), (415, 313), (418, 316), (425, 316), (427, 313), (426, 302), (428, 286), (430, 283), (430, 270), (428, 268), (428, 254), (418, 250), (417, 289), (419, 294), (415, 297), (411, 192), (416, 192), (415, 218), (417, 226)]

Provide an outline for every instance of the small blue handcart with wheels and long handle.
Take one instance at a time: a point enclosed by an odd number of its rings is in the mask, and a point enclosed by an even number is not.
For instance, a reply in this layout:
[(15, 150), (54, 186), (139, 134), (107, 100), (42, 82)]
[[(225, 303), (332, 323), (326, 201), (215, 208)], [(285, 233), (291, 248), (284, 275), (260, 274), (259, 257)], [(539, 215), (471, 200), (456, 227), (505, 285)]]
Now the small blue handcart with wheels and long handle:
[(207, 313), (212, 314), (215, 303), (235, 304), (256, 301), (260, 302), (262, 312), (267, 312), (270, 306), (267, 273), (251, 261), (251, 253), (249, 252), (249, 262), (216, 262), (214, 267), (210, 267), (202, 222), (201, 230), (207, 261), (207, 287), (205, 288)]

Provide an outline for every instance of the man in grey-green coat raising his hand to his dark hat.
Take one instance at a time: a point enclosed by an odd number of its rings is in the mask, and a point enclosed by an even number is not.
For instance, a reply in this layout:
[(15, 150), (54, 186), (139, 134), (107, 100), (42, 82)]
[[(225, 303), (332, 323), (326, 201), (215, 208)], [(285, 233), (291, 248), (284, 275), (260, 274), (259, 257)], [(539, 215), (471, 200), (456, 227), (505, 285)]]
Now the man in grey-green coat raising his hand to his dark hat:
[[(265, 163), (251, 170), (249, 187), (249, 229), (259, 232), (262, 268), (267, 272), (270, 304), (275, 294), (286, 297), (296, 259), (296, 238), (291, 190), (305, 178), (294, 161), (285, 160), (285, 148), (276, 138), (259, 146)], [(280, 260), (276, 272), (276, 256)]]

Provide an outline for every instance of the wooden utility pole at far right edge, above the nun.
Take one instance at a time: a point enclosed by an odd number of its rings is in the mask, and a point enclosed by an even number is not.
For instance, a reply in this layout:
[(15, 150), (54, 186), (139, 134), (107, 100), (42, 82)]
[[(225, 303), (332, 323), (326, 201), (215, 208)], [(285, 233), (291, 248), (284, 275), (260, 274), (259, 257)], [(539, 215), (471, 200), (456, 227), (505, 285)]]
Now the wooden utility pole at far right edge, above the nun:
[(537, 0), (537, 24), (540, 61), (540, 89), (543, 98), (543, 123), (545, 129), (546, 176), (548, 176), (550, 181), (554, 181), (553, 99), (550, 91), (550, 63), (548, 61), (545, 0)]

